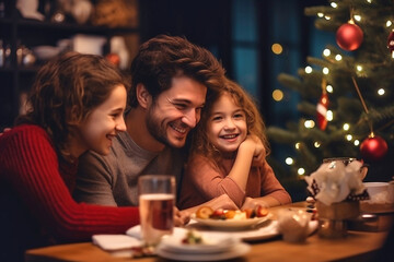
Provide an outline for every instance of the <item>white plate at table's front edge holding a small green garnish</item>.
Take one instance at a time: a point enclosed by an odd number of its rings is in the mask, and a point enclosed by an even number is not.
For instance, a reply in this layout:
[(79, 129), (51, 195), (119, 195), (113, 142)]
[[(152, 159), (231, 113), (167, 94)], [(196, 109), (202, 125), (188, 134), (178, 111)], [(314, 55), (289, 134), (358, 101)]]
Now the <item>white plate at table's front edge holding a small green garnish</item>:
[(240, 242), (239, 239), (225, 235), (211, 235), (199, 233), (204, 239), (204, 243), (187, 245), (183, 243), (183, 236), (173, 235), (164, 237), (159, 248), (163, 248), (170, 252), (176, 253), (218, 253), (228, 251), (234, 245)]

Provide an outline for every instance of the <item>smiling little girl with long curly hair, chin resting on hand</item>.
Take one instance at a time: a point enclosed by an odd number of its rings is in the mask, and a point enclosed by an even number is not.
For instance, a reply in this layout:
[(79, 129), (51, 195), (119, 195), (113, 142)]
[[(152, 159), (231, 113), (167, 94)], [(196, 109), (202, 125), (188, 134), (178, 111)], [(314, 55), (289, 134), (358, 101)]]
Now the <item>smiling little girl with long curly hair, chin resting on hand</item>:
[(241, 210), (290, 203), (289, 193), (265, 157), (259, 165), (252, 165), (253, 158), (267, 148), (264, 131), (253, 99), (228, 80), (218, 96), (207, 102), (194, 133), (178, 207), (198, 205), (221, 194), (228, 194)]

